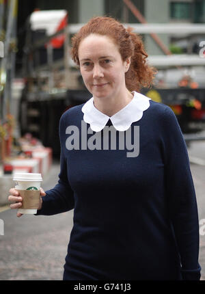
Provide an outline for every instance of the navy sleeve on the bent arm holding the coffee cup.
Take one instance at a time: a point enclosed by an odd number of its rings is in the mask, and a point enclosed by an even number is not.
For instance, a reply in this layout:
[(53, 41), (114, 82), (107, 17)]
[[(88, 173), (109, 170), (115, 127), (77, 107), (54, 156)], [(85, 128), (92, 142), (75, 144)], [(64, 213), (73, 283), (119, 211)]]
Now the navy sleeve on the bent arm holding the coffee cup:
[(46, 196), (42, 197), (42, 209), (37, 211), (36, 215), (55, 215), (74, 208), (74, 193), (68, 183), (67, 163), (64, 156), (63, 132), (64, 122), (61, 117), (59, 122), (59, 138), (61, 144), (59, 181), (53, 189), (45, 191)]

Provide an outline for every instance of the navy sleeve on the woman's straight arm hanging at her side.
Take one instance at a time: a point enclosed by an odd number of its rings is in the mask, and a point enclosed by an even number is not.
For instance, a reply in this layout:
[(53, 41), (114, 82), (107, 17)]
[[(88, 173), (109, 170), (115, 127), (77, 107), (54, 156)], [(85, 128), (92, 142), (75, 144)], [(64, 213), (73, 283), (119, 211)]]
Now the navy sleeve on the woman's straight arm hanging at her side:
[(172, 109), (165, 108), (163, 119), (165, 187), (176, 242), (180, 252), (183, 280), (200, 280), (199, 222), (197, 201), (187, 146)]

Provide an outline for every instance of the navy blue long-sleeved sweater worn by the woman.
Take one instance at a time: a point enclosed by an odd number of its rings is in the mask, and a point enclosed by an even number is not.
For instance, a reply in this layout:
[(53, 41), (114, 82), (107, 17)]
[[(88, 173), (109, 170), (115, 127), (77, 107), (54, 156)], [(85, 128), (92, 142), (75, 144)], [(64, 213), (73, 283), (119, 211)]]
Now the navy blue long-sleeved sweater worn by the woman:
[[(103, 130), (101, 150), (86, 150), (82, 107), (61, 116), (59, 181), (46, 191), (37, 213), (74, 209), (64, 280), (200, 280), (195, 189), (172, 109), (150, 101), (131, 125), (132, 135), (139, 126), (139, 154), (128, 157), (126, 144), (119, 148), (119, 131), (115, 150), (103, 147)], [(69, 134), (68, 126), (76, 129)], [(68, 150), (76, 130), (79, 148)]]

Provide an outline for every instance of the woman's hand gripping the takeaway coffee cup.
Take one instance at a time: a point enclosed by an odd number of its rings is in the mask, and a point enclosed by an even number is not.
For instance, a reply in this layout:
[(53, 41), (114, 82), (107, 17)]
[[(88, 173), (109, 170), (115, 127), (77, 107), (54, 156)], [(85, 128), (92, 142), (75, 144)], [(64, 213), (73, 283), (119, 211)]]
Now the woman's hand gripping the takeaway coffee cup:
[[(20, 206), (22, 206), (22, 197), (19, 196), (19, 193), (16, 189), (12, 188), (10, 189), (10, 196), (8, 196), (8, 201), (12, 204), (10, 204), (10, 208), (11, 209), (20, 209)], [(39, 206), (38, 209), (41, 209), (42, 207), (42, 197), (45, 196), (46, 193), (44, 192), (44, 190), (42, 188), (40, 188), (40, 201), (39, 201)], [(23, 213), (16, 213), (17, 217), (21, 217), (21, 215), (23, 215)]]

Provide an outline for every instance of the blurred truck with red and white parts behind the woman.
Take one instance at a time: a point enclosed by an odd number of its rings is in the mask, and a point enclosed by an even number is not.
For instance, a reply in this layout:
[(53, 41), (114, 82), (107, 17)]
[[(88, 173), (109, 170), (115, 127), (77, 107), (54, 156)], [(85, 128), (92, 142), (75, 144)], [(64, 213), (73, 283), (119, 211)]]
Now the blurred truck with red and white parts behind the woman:
[[(51, 147), (53, 156), (58, 158), (59, 118), (70, 107), (85, 103), (92, 97), (83, 84), (79, 68), (70, 57), (70, 39), (82, 25), (69, 24), (66, 10), (36, 11), (27, 21), (23, 61), (25, 87), (19, 107), (21, 135), (31, 133), (44, 146)], [(124, 25), (134, 27), (139, 33), (140, 29), (143, 33), (146, 27), (140, 24)], [(154, 25), (149, 24), (148, 27), (148, 32), (149, 29), (154, 29)], [(195, 29), (197, 31), (197, 27)], [(205, 31), (205, 25), (199, 29)], [(169, 30), (170, 27), (167, 31)], [(161, 56), (157, 60), (156, 56), (150, 56), (148, 62), (165, 72), (178, 69), (178, 66), (180, 70), (183, 66), (204, 67), (205, 58), (197, 55), (173, 55)], [(185, 71), (182, 72), (184, 74)], [(184, 77), (181, 81), (183, 79)], [(143, 88), (141, 93), (173, 109), (187, 142), (204, 139), (197, 134), (205, 129), (205, 85), (202, 83), (200, 87), (192, 87), (190, 83), (182, 85), (180, 81), (165, 85), (161, 79), (157, 81), (152, 88)]]

